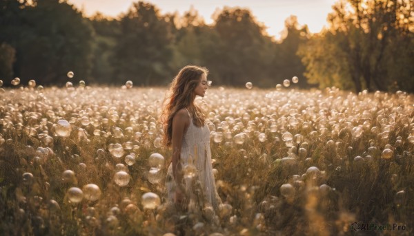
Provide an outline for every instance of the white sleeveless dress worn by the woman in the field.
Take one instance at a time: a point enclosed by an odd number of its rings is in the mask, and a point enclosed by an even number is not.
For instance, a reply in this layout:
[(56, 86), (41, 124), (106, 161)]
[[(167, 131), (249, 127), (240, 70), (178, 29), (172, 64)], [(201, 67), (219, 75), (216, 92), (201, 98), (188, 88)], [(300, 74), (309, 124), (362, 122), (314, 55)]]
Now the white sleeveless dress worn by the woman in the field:
[[(188, 112), (188, 110), (187, 110)], [(188, 116), (190, 113), (188, 112)], [(219, 210), (219, 204), (221, 204), (221, 199), (217, 193), (215, 186), (215, 179), (213, 175), (213, 167), (211, 164), (211, 151), (210, 151), (210, 129), (208, 125), (204, 127), (197, 127), (193, 124), (193, 119), (190, 116), (190, 125), (186, 133), (184, 133), (182, 146), (181, 146), (181, 167), (184, 169), (186, 165), (193, 164), (197, 169), (195, 175), (195, 180), (191, 181), (188, 178), (185, 178), (185, 187), (186, 193), (190, 193), (190, 203), (192, 198), (195, 197), (193, 190), (195, 189), (195, 182), (199, 180), (199, 185), (201, 189), (201, 195), (203, 196), (203, 206), (213, 206), (216, 213)], [(172, 163), (168, 167), (168, 172), (166, 176), (166, 191), (167, 191), (167, 200), (174, 201), (175, 197), (175, 180), (172, 175)], [(199, 202), (199, 200), (193, 200), (193, 202)]]

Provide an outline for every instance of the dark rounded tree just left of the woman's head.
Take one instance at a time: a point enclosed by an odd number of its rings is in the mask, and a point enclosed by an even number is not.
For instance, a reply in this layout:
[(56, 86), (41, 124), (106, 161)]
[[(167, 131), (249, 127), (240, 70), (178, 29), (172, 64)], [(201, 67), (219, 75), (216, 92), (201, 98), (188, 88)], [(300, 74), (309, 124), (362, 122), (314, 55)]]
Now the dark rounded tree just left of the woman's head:
[(139, 1), (121, 17), (120, 34), (112, 63), (115, 76), (139, 85), (157, 85), (170, 80), (172, 35), (166, 19), (150, 3)]

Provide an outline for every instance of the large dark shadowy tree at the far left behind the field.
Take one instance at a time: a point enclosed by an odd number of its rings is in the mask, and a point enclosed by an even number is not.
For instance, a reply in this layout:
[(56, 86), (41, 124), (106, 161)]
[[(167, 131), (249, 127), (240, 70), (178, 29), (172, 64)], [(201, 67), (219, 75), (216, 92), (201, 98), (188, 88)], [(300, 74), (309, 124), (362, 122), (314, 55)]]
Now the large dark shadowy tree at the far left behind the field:
[(64, 83), (68, 71), (82, 79), (89, 76), (93, 31), (72, 5), (59, 0), (2, 4), (6, 35), (1, 40), (16, 50), (13, 74), (22, 83), (32, 78), (43, 84)]

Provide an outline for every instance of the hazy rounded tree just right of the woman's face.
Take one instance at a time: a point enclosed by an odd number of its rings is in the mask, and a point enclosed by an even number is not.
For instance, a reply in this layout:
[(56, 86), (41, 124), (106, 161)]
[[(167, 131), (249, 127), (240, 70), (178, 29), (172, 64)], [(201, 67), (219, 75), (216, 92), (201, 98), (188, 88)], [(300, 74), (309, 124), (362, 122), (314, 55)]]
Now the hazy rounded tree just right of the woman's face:
[(224, 8), (215, 19), (218, 54), (208, 60), (224, 85), (240, 86), (247, 81), (265, 85), (270, 65), (270, 37), (251, 12)]

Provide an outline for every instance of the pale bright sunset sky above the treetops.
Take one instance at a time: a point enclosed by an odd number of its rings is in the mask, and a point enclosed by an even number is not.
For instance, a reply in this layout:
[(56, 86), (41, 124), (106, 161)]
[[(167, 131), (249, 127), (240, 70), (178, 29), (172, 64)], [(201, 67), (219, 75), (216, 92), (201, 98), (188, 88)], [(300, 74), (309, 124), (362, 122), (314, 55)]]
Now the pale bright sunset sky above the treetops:
[[(248, 8), (257, 21), (264, 23), (270, 36), (280, 39), (284, 21), (290, 15), (297, 16), (299, 25), (308, 25), (311, 32), (317, 33), (328, 25), (326, 17), (332, 12), (331, 6), (337, 0), (150, 0), (161, 14), (178, 12), (183, 15), (193, 6), (208, 24), (213, 23), (212, 15), (224, 6)], [(68, 0), (87, 17), (99, 11), (110, 17), (127, 12), (132, 2), (137, 0)]]

